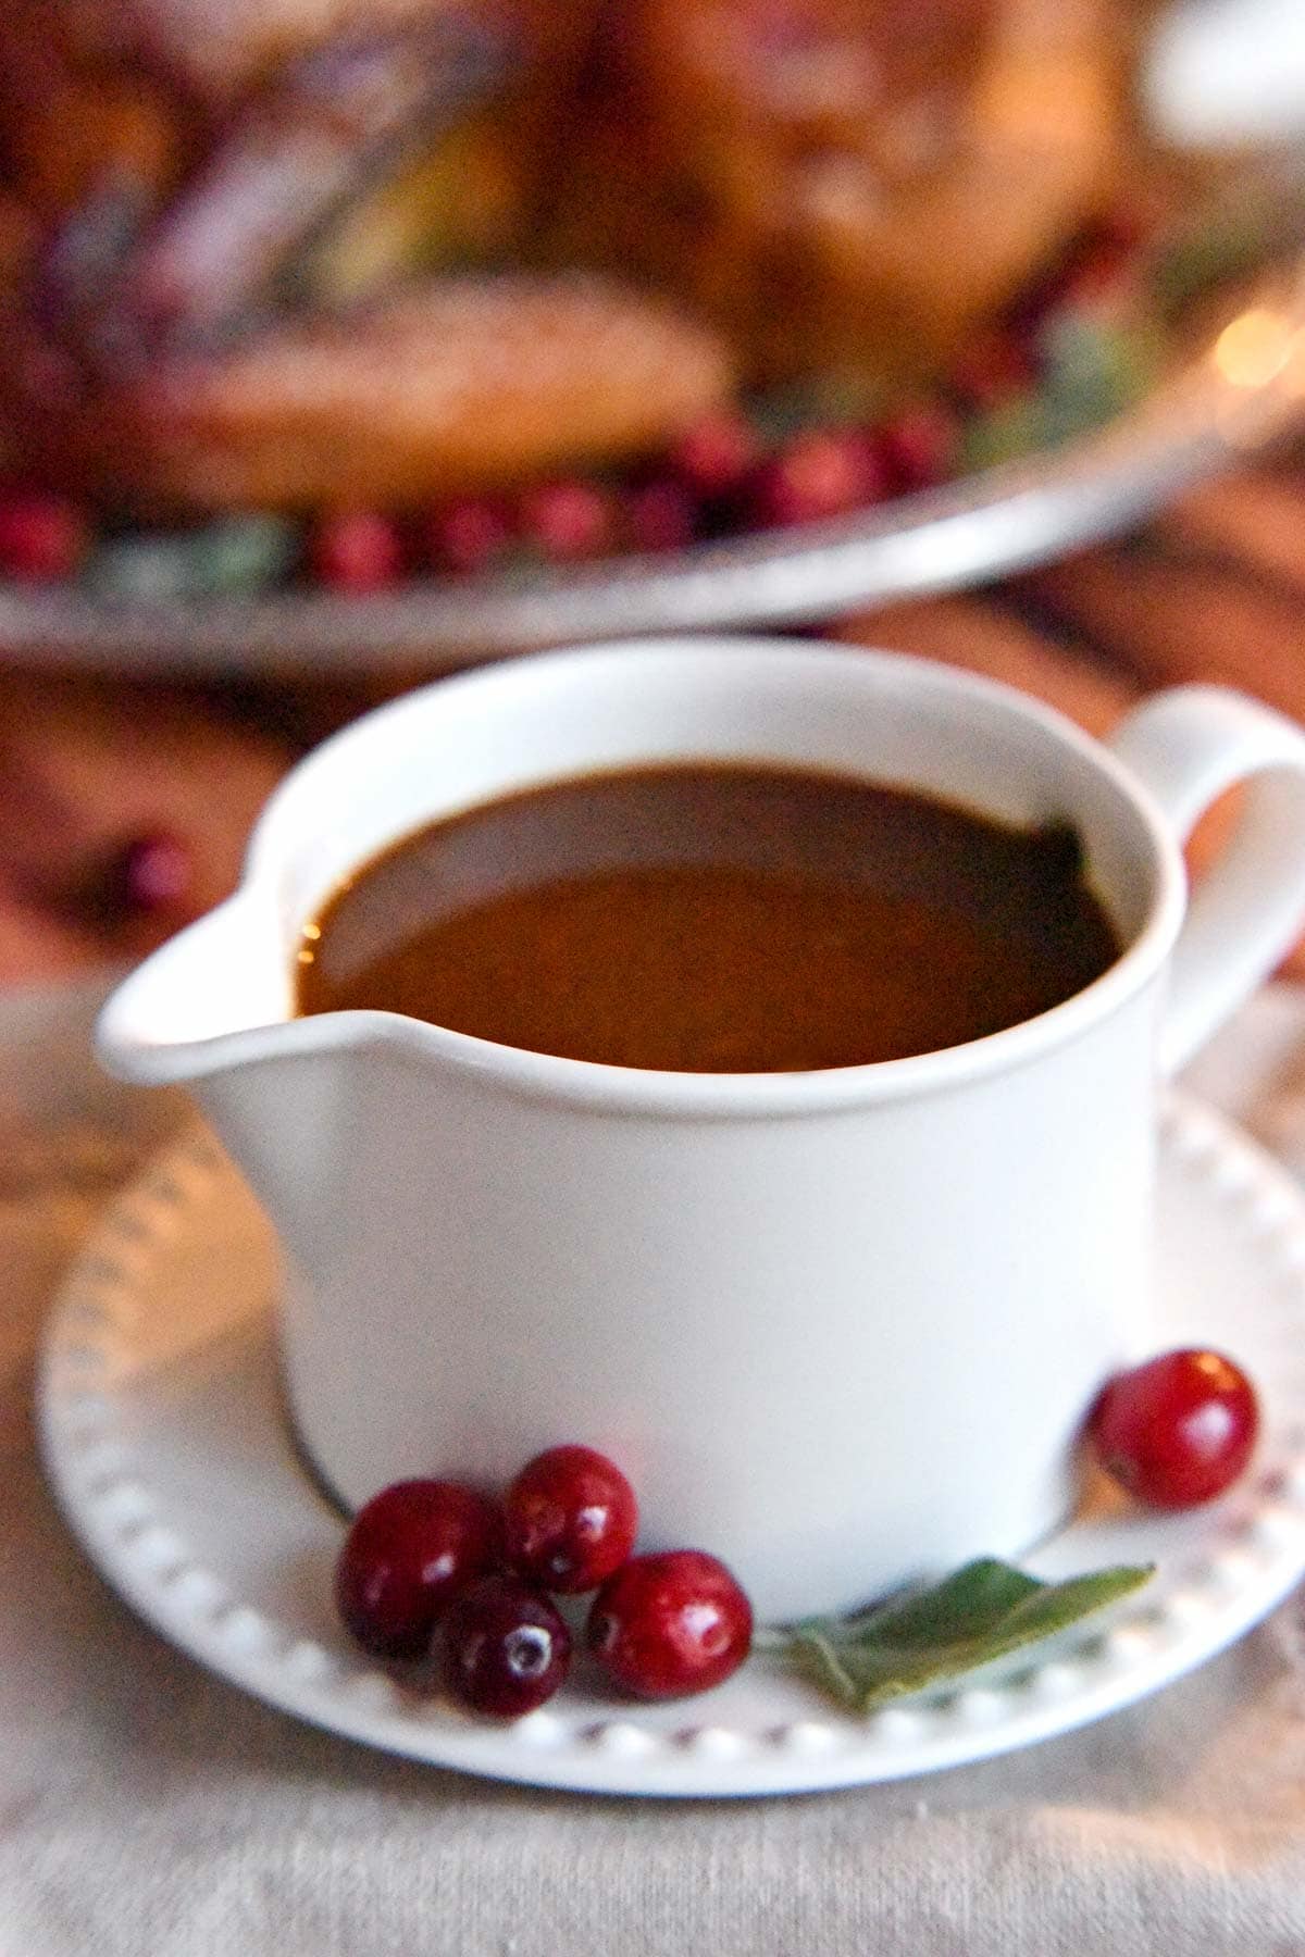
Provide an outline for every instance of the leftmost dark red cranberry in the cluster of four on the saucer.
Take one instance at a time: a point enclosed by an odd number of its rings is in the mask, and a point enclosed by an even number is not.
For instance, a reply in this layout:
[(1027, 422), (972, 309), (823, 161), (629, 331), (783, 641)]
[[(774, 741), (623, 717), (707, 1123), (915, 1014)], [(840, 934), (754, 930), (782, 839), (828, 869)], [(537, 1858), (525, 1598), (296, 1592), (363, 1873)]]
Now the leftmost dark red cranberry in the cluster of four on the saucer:
[(395, 1481), (374, 1495), (344, 1538), (335, 1603), (374, 1658), (425, 1658), (452, 1597), (503, 1548), (493, 1503), (458, 1481)]

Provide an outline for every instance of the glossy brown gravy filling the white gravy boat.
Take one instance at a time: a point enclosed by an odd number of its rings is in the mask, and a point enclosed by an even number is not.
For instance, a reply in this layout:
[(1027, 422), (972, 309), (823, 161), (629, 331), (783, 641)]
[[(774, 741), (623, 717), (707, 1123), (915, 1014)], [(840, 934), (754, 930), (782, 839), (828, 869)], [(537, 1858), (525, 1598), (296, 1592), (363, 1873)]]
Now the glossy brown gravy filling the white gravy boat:
[(1119, 955), (1068, 828), (785, 767), (640, 767), (434, 822), (305, 932), (297, 1010), (370, 1006), (616, 1067), (953, 1047)]

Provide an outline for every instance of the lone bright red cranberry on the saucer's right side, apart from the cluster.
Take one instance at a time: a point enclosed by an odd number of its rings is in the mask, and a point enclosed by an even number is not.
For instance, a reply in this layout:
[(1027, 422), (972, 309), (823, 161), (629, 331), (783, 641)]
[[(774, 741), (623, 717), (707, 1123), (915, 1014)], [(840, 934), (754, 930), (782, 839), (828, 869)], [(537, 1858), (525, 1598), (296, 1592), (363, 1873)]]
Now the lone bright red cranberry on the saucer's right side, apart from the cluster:
[(1219, 1352), (1133, 1366), (1100, 1393), (1088, 1433), (1111, 1479), (1156, 1509), (1192, 1509), (1229, 1487), (1260, 1429), (1254, 1388)]

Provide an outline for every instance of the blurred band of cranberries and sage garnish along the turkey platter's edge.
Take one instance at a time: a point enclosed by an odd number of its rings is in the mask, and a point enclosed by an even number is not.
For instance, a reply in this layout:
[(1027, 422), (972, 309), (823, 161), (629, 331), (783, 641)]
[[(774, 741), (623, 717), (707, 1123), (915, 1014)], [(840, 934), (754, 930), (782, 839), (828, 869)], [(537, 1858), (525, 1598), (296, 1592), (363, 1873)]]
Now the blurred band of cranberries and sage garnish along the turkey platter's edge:
[[(145, 603), (254, 597), (290, 583), (368, 597), (428, 573), (477, 579), (673, 554), (869, 509), (1039, 450), (1049, 427), (1064, 438), (1141, 399), (1154, 382), (1156, 335), (1164, 341), (1145, 250), (1162, 215), (1156, 205), (1094, 221), (972, 327), (947, 372), (884, 401), (875, 423), (861, 421), (861, 393), (808, 374), (698, 411), (648, 452), (593, 472), (577, 462), (552, 481), (522, 474), (501, 491), (468, 481), (436, 507), (323, 501), (315, 515), (192, 511), (160, 526), (131, 507), (78, 501), (68, 483), (53, 491), (16, 476), (0, 485), (0, 581), (82, 583), (96, 599)], [(1205, 276), (1213, 282), (1217, 268)], [(70, 376), (51, 386), (67, 387)]]

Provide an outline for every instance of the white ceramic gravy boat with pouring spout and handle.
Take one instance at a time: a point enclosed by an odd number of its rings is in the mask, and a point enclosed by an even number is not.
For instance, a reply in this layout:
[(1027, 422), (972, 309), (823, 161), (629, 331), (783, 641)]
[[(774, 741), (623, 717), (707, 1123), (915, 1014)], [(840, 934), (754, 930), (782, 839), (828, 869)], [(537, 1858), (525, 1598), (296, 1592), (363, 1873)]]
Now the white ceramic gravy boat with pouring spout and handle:
[[(292, 1018), (303, 926), (393, 840), (693, 757), (1068, 818), (1125, 949), (990, 1039), (806, 1074)], [(1180, 840), (1242, 779), (1240, 838), (1184, 922)], [(652, 642), (444, 681), (327, 742), (241, 890), (98, 1039), (131, 1080), (190, 1082), (266, 1204), (290, 1405), (344, 1505), (411, 1474), (503, 1483), (583, 1440), (630, 1474), (644, 1544), (714, 1550), (785, 1618), (1017, 1554), (1072, 1505), (1088, 1405), (1150, 1337), (1158, 1074), (1303, 918), (1305, 738), (1237, 695), (1162, 695), (1105, 748), (918, 660)]]

